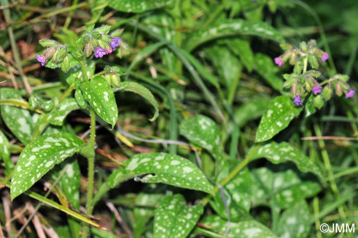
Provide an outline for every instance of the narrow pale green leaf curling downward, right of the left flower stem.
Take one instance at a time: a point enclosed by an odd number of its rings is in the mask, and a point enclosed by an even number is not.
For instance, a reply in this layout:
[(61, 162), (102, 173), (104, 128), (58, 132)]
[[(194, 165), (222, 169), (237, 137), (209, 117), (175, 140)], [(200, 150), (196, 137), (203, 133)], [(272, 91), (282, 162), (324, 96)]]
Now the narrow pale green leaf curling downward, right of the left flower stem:
[(154, 107), (154, 116), (150, 118), (149, 121), (154, 121), (158, 117), (158, 102), (155, 100), (153, 94), (147, 88), (145, 88), (145, 86), (142, 86), (141, 84), (136, 82), (121, 82), (119, 84), (119, 87), (117, 89), (114, 89), (114, 92), (116, 91), (125, 91), (139, 94)]

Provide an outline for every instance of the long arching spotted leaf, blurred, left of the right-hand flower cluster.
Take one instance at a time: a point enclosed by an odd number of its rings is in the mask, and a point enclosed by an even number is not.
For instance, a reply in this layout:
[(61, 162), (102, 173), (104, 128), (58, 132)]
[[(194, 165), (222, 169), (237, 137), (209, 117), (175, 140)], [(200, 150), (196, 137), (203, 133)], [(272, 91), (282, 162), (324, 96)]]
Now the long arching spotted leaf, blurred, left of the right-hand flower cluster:
[(285, 41), (281, 33), (267, 23), (262, 21), (252, 23), (248, 20), (235, 19), (220, 21), (217, 26), (193, 33), (186, 41), (186, 49), (191, 52), (210, 40), (236, 35), (255, 35), (279, 42)]

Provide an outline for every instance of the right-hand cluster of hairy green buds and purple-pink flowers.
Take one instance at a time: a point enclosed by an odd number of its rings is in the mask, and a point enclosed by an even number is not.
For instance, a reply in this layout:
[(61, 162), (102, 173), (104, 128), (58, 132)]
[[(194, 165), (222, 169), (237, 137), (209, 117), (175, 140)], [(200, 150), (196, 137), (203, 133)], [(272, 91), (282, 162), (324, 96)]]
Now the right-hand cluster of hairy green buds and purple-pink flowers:
[[(293, 103), (297, 106), (303, 105), (302, 100), (310, 92), (314, 94), (315, 98), (312, 101), (318, 108), (323, 106), (323, 99), (327, 101), (331, 98), (333, 88), (338, 96), (345, 93), (345, 97), (350, 98), (354, 95), (355, 91), (347, 83), (349, 79), (347, 75), (337, 74), (328, 79), (322, 76), (318, 70), (320, 61), (324, 63), (329, 55), (317, 48), (315, 40), (310, 40), (307, 43), (301, 42), (298, 48), (288, 44), (281, 44), (280, 46), (285, 52), (276, 57), (274, 61), (279, 67), (282, 67), (286, 61), (294, 66), (292, 74), (283, 75), (286, 80), (283, 83), (283, 88), (290, 89)], [(308, 70), (308, 67), (311, 69)], [(318, 80), (321, 82), (319, 83)]]

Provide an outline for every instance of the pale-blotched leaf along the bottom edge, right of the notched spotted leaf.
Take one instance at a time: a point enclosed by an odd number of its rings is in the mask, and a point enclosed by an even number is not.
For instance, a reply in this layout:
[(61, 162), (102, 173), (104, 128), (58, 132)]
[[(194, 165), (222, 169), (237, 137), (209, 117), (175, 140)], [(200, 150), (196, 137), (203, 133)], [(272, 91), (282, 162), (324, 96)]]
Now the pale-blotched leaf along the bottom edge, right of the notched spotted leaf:
[[(217, 215), (206, 217), (200, 223), (217, 234), (225, 233), (228, 227), (228, 221)], [(268, 227), (256, 220), (231, 222), (228, 237), (278, 238)]]

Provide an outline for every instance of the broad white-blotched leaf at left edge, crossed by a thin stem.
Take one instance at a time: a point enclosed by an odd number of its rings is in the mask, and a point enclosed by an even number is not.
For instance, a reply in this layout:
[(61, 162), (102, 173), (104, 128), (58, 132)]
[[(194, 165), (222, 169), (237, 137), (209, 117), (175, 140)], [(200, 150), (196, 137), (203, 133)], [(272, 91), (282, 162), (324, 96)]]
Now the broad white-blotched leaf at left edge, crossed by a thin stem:
[[(0, 89), (1, 99), (20, 99), (20, 91), (11, 88)], [(10, 131), (16, 136), (16, 138), (23, 144), (28, 144), (33, 135), (33, 121), (31, 114), (26, 109), (21, 109), (16, 106), (1, 106), (2, 118), (10, 129)]]

